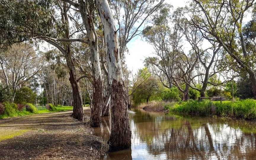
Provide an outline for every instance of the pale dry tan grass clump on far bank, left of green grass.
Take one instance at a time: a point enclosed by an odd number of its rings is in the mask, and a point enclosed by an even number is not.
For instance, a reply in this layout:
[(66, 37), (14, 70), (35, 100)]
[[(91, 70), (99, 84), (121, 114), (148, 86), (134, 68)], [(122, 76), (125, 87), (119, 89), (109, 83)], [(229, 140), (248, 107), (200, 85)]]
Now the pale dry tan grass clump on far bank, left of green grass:
[(175, 102), (151, 101), (148, 103), (141, 103), (138, 105), (138, 108), (153, 112), (163, 112), (167, 111), (173, 105), (175, 105)]

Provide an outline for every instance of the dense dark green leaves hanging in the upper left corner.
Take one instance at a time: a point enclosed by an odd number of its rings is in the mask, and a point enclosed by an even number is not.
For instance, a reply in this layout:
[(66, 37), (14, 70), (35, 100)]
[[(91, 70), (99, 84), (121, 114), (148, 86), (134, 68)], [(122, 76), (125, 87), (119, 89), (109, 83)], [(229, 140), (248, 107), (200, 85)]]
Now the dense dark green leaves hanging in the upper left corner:
[[(29, 40), (31, 32), (42, 33), (49, 37), (51, 32), (52, 12), (51, 0), (12, 0), (0, 2), (0, 42), (2, 47), (13, 42)], [(20, 12), (22, 11), (22, 12)]]

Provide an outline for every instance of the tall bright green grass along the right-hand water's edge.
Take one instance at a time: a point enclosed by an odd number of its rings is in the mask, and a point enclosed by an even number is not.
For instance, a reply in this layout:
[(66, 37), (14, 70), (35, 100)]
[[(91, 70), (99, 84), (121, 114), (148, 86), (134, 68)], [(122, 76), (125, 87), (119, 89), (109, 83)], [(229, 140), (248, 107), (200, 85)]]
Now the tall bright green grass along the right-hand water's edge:
[(256, 119), (256, 100), (246, 99), (241, 101), (209, 101), (204, 100), (182, 102), (168, 107), (170, 112), (183, 115), (207, 116), (216, 115), (223, 117), (235, 117), (245, 120)]

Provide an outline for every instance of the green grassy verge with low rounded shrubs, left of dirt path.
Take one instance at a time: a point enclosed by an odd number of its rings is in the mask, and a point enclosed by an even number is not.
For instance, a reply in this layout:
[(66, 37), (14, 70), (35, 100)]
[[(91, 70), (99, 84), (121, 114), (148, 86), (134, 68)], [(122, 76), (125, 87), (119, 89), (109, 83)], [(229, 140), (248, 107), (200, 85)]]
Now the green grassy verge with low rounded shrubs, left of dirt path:
[(71, 110), (73, 110), (72, 106), (54, 106), (54, 110), (48, 110), (47, 108), (37, 109), (31, 103), (17, 105), (14, 103), (4, 102), (0, 103), (0, 119), (52, 112), (64, 112)]

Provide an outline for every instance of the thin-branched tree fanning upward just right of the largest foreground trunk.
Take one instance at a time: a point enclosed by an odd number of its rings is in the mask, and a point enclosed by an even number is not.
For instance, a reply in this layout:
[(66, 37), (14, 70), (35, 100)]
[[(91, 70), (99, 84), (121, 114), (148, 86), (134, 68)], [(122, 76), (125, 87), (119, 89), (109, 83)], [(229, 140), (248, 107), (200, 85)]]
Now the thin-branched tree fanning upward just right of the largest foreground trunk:
[[(120, 56), (127, 51), (127, 44), (141, 35), (147, 20), (164, 3), (164, 0), (114, 0), (111, 1), (119, 33)], [(121, 58), (122, 59), (122, 58)]]

